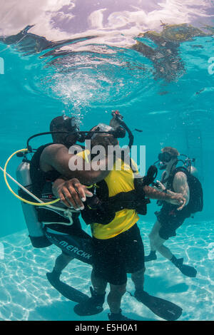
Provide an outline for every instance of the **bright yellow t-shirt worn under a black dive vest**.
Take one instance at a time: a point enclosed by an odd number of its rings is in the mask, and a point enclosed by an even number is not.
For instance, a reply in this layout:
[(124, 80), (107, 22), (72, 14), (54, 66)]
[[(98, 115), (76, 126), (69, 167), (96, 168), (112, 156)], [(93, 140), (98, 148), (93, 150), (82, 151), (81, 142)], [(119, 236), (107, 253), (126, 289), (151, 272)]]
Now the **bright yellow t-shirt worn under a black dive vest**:
[[(83, 159), (85, 159), (85, 153), (78, 153)], [(121, 170), (116, 170), (116, 164), (121, 164)], [(108, 185), (108, 195), (113, 197), (120, 192), (129, 192), (134, 190), (134, 178), (133, 171), (123, 162), (123, 160), (117, 160), (114, 164), (113, 170), (108, 173), (104, 179)], [(136, 210), (120, 210), (116, 212), (114, 219), (108, 223), (108, 225), (101, 225), (98, 223), (91, 224), (91, 232), (93, 237), (97, 239), (110, 239), (116, 237), (121, 232), (129, 230), (139, 220)]]

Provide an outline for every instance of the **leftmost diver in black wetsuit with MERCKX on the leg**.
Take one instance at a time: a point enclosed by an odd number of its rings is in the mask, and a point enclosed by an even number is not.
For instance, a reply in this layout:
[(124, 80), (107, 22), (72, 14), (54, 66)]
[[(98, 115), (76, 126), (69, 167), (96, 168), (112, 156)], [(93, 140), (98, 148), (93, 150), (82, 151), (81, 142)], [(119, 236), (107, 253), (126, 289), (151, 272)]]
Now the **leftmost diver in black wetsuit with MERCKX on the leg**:
[[(111, 123), (113, 124), (113, 120), (111, 120)], [(61, 177), (61, 172), (64, 172), (60, 170), (56, 161), (61, 163), (63, 161), (63, 151), (68, 153), (68, 148), (71, 148), (71, 146), (73, 152), (75, 150), (77, 152), (83, 150), (82, 146), (75, 145), (75, 143), (77, 141), (82, 143), (86, 138), (85, 133), (90, 132), (80, 132), (76, 118), (68, 118), (64, 115), (58, 116), (51, 121), (50, 132), (33, 135), (29, 140), (38, 135), (46, 135), (48, 133), (51, 133), (53, 143), (42, 145), (36, 150), (30, 161), (24, 155), (24, 160), (16, 172), (17, 179), (21, 182), (21, 185), (25, 185), (36, 197), (39, 197), (44, 202), (56, 199), (52, 186), (55, 180)], [(124, 137), (125, 135), (126, 130), (119, 127), (117, 136)], [(29, 140), (27, 148), (29, 148), (29, 152), (32, 152)], [(56, 155), (58, 151), (62, 153), (59, 160), (58, 158), (55, 160), (56, 168), (49, 164), (53, 150), (55, 150)], [(73, 172), (69, 170), (69, 173), (72, 175)], [(78, 294), (78, 291), (68, 287), (59, 278), (62, 270), (73, 258), (80, 259), (88, 264), (92, 263), (91, 237), (81, 229), (81, 223), (78, 219), (86, 197), (91, 197), (92, 193), (86, 186), (81, 185), (76, 178), (71, 178), (68, 181), (68, 187), (66, 185), (66, 177), (63, 177), (63, 182), (65, 187), (61, 188), (60, 192), (57, 191), (56, 187), (54, 189), (62, 201), (60, 206), (63, 208), (72, 207), (70, 218), (58, 210), (58, 204), (54, 209), (53, 206), (50, 209), (49, 207), (26, 205), (26, 203), (22, 202), (22, 207), (33, 246), (48, 247), (54, 243), (62, 250), (62, 253), (56, 258), (53, 271), (46, 274), (49, 282), (65, 297), (79, 302), (85, 299), (86, 295), (81, 294), (81, 292)], [(26, 192), (21, 189), (19, 190), (19, 195), (26, 200), (31, 200), (31, 197), (26, 196)], [(62, 205), (63, 203), (66, 206)]]

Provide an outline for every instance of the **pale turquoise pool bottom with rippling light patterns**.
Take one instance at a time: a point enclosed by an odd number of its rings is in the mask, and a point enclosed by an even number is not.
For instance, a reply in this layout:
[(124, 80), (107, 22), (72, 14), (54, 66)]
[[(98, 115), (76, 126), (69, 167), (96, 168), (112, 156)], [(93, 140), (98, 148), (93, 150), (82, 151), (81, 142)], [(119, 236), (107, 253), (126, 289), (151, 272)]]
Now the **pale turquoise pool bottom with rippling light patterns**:
[[(151, 225), (141, 222), (143, 242), (148, 254), (148, 233)], [(185, 277), (170, 262), (158, 254), (154, 262), (146, 263), (145, 289), (157, 297), (168, 299), (183, 308), (180, 321), (214, 320), (214, 233), (213, 222), (183, 225), (177, 237), (168, 241), (176, 257), (198, 271), (196, 278)], [(81, 317), (73, 312), (75, 302), (69, 301), (51, 287), (46, 272), (51, 271), (60, 251), (51, 246), (34, 249), (27, 230), (0, 239), (0, 320), (19, 321), (108, 321), (108, 304), (101, 314)], [(89, 294), (91, 267), (74, 259), (63, 271), (66, 284)], [(129, 276), (130, 277), (130, 276)], [(127, 290), (133, 292), (128, 279)], [(126, 293), (122, 300), (123, 314), (136, 320), (161, 320), (146, 306)]]

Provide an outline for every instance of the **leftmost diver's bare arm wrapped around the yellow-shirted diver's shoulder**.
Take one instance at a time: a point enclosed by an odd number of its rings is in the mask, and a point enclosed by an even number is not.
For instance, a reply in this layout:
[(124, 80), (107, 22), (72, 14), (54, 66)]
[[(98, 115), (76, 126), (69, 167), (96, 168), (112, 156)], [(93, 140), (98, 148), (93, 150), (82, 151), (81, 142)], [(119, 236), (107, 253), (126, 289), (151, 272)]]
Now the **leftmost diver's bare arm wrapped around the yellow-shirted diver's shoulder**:
[[(69, 165), (73, 160), (78, 162), (76, 170), (71, 170)], [(93, 169), (93, 163), (86, 165), (81, 157), (68, 153), (68, 148), (61, 144), (53, 144), (46, 147), (40, 158), (41, 170), (56, 170), (68, 180), (77, 178), (82, 184), (91, 185), (103, 180), (110, 170), (108, 170), (107, 157), (99, 160), (98, 170)]]

